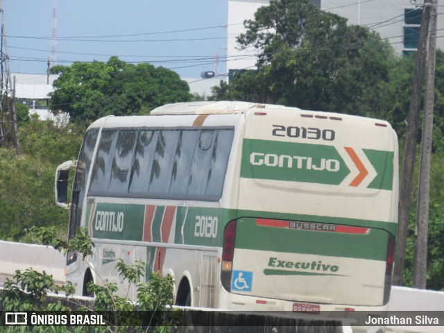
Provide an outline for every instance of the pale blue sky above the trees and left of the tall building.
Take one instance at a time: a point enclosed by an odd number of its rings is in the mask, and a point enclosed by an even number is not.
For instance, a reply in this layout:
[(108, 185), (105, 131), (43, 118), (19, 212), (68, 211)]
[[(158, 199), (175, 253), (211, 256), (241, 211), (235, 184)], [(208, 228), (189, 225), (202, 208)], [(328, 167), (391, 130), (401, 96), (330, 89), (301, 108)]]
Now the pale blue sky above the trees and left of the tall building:
[(0, 5), (12, 73), (46, 74), (48, 58), (69, 66), (110, 56), (182, 78), (226, 70), (227, 0), (56, 0), (55, 40), (54, 0)]

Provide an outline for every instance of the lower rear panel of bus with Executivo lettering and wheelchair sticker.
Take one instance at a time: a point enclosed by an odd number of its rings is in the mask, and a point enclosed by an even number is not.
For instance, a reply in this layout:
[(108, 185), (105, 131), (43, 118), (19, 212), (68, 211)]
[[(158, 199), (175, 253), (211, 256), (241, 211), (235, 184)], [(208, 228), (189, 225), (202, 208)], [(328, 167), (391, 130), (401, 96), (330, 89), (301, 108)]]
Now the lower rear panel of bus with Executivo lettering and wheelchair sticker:
[(225, 229), (223, 286), (252, 296), (245, 302), (257, 309), (380, 307), (390, 293), (393, 249), (393, 235), (378, 228), (241, 218)]

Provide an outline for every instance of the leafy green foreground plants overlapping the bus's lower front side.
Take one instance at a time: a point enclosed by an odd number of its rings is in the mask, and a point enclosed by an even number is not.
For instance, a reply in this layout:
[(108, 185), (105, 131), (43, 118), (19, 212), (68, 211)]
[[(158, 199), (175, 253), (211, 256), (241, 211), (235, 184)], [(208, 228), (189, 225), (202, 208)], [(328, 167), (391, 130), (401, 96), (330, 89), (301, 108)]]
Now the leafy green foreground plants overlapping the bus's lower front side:
[[(66, 243), (56, 237), (56, 233), (51, 228), (33, 228), (31, 230), (35, 237), (42, 239), (46, 245), (54, 246), (57, 250), (78, 253), (83, 259), (92, 255), (94, 243), (89, 238), (85, 228), (80, 228), (76, 236)], [(90, 267), (93, 271), (94, 269)], [(129, 282), (125, 297), (117, 295), (117, 284), (102, 283), (94, 284), (89, 282), (87, 289), (94, 293), (94, 307), (88, 308), (80, 306), (78, 311), (89, 313), (101, 313), (109, 311), (105, 318), (106, 327), (95, 327), (95, 332), (126, 332), (128, 327), (132, 327), (135, 332), (169, 332), (169, 327), (178, 325), (180, 318), (179, 310), (172, 310), (173, 305), (173, 279), (170, 276), (163, 277), (161, 273), (155, 272), (149, 275), (146, 282), (144, 278), (145, 263), (137, 261), (133, 265), (128, 265), (119, 259), (117, 271), (123, 280)], [(138, 302), (133, 303), (128, 299), (128, 292), (133, 287), (137, 287)], [(0, 290), (0, 308), (6, 311), (71, 311), (70, 307), (62, 305), (60, 300), (46, 302), (48, 292), (59, 293), (63, 291), (65, 297), (72, 295), (74, 286), (68, 282), (62, 287), (56, 285), (52, 275), (45, 272), (39, 273), (32, 268), (22, 272), (17, 270), (12, 280), (7, 279), (4, 289)], [(69, 301), (75, 304), (75, 300)], [(76, 307), (79, 304), (75, 304)], [(142, 312), (143, 311), (143, 312)], [(148, 314), (144, 318), (141, 314)], [(139, 327), (140, 330), (137, 328)], [(48, 327), (34, 327), (38, 332), (48, 332)], [(57, 332), (69, 332), (70, 327), (55, 327)], [(42, 330), (40, 330), (42, 329)], [(76, 330), (76, 329), (74, 329)], [(53, 332), (50, 330), (49, 332)]]

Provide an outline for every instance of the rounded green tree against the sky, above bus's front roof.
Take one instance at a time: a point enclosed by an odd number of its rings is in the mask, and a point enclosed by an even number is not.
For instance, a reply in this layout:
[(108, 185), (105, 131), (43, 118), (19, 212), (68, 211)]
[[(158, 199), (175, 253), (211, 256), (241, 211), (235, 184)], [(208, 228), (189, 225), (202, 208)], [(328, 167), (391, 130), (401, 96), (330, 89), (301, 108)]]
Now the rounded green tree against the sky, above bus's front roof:
[(187, 83), (175, 72), (147, 63), (128, 64), (117, 57), (55, 66), (51, 72), (60, 76), (53, 83), (49, 105), (67, 112), (75, 122), (108, 114), (148, 114), (157, 106), (192, 97)]

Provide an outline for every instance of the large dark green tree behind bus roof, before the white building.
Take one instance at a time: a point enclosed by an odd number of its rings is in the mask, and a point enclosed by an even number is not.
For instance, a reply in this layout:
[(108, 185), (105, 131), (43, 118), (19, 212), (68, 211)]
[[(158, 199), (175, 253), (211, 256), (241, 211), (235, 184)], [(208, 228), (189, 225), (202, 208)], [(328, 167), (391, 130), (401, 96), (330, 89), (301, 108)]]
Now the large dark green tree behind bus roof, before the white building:
[(257, 70), (234, 76), (218, 98), (361, 115), (379, 110), (395, 56), (376, 33), (308, 0), (272, 0), (245, 26), (237, 41), (259, 50)]

